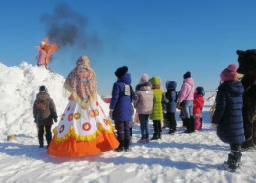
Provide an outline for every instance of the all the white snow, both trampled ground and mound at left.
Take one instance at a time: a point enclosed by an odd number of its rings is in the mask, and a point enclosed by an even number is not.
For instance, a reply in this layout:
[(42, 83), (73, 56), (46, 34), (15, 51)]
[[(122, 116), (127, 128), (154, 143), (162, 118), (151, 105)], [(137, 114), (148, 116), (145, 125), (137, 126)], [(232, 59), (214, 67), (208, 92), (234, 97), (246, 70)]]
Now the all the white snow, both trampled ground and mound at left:
[[(38, 148), (32, 105), (40, 85), (48, 88), (58, 115), (68, 102), (63, 94), (64, 77), (26, 62), (18, 67), (0, 63), (0, 182), (256, 182), (255, 152), (243, 152), (235, 173), (219, 170), (229, 152), (210, 127), (209, 109), (214, 93), (206, 94), (203, 130), (164, 134), (161, 140), (139, 144), (140, 127), (135, 124), (131, 152), (104, 152), (83, 158), (50, 156)], [(108, 105), (98, 96), (108, 113)], [(54, 124), (56, 126), (57, 124)], [(151, 132), (152, 123), (150, 125)], [(15, 134), (16, 141), (7, 141)], [(152, 134), (152, 133), (151, 133)]]

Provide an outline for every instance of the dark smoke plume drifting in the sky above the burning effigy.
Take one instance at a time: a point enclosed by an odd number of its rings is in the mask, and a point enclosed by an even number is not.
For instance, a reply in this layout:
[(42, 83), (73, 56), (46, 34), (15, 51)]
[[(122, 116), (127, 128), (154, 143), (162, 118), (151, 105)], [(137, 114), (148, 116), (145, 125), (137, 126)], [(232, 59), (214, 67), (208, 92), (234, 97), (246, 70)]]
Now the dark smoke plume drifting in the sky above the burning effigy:
[(41, 22), (51, 42), (65, 46), (78, 46), (80, 49), (101, 47), (97, 33), (88, 33), (88, 20), (84, 15), (72, 11), (68, 5), (59, 4), (52, 14), (44, 14)]

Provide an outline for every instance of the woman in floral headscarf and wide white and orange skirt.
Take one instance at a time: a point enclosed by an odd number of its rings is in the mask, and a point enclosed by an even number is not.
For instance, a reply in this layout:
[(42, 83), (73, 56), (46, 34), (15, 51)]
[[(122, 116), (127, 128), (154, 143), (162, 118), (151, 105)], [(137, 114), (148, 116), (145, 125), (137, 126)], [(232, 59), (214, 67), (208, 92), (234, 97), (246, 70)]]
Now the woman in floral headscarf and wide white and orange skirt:
[(96, 74), (88, 57), (81, 56), (64, 83), (71, 92), (61, 121), (54, 129), (48, 153), (79, 157), (118, 147), (112, 125), (97, 101)]

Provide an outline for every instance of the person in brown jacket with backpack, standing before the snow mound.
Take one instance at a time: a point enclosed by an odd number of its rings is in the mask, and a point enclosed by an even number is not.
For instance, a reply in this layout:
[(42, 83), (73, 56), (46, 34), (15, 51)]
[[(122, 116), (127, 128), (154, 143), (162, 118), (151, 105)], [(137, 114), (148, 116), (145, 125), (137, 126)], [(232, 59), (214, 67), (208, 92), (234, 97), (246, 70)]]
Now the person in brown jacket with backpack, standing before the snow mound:
[(52, 139), (51, 126), (54, 122), (57, 122), (57, 112), (53, 100), (48, 94), (48, 90), (45, 86), (40, 86), (39, 93), (36, 95), (36, 100), (33, 104), (33, 117), (34, 122), (38, 128), (38, 139), (40, 148), (43, 148), (43, 134), (44, 128), (46, 129), (46, 140), (48, 146)]

